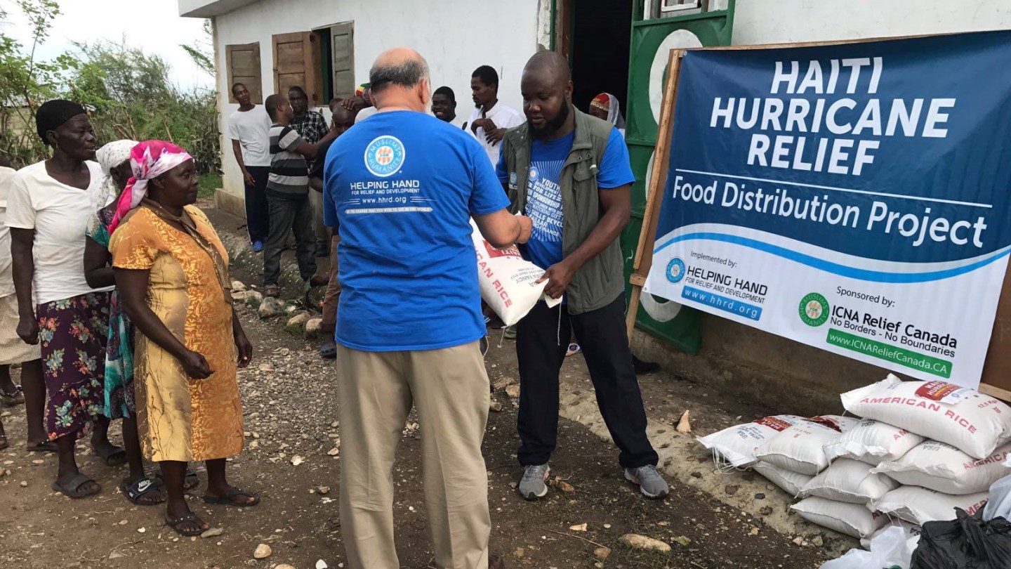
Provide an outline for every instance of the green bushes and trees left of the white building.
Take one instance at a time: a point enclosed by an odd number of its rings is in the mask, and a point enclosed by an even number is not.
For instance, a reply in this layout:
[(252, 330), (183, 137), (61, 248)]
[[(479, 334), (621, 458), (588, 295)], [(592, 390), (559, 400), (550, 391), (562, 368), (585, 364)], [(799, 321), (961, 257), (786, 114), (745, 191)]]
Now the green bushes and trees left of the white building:
[[(119, 139), (170, 141), (195, 159), (206, 182), (202, 194), (213, 191), (208, 185), (220, 185), (213, 91), (181, 89), (172, 83), (165, 60), (124, 44), (80, 44), (53, 61), (38, 61), (35, 49), (49, 36), (60, 5), (57, 0), (0, 0), (0, 19), (14, 11), (30, 22), (32, 45), (0, 33), (0, 160), (21, 167), (48, 156), (35, 135), (35, 109), (49, 99), (67, 98), (88, 109), (99, 145)], [(209, 23), (205, 29), (209, 36)], [(202, 44), (184, 49), (212, 73), (207, 43)]]

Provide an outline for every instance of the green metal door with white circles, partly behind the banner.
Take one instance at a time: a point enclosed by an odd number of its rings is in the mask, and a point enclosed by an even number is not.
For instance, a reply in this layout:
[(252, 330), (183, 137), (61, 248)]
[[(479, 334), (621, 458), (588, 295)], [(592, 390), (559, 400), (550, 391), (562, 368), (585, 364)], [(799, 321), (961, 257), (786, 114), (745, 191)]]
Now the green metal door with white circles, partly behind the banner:
[[(636, 183), (632, 186), (632, 223), (622, 235), (626, 278), (632, 273), (642, 229), (668, 54), (678, 48), (729, 46), (734, 3), (735, 0), (729, 0), (726, 10), (659, 19), (643, 19), (644, 0), (635, 3), (626, 142)], [(695, 309), (644, 293), (636, 323), (679, 349), (699, 351), (701, 313)]]

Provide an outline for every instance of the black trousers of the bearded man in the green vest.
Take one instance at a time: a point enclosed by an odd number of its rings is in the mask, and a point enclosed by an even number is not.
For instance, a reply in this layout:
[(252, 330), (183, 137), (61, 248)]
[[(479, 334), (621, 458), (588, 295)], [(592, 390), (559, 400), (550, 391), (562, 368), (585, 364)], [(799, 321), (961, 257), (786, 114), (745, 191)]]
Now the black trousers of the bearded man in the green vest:
[(596, 405), (624, 468), (656, 466), (657, 456), (646, 437), (646, 410), (632, 365), (625, 331), (625, 297), (610, 305), (569, 316), (564, 305), (543, 302), (517, 324), (516, 352), (520, 360), (520, 452), (523, 466), (543, 465), (558, 442), (558, 373), (569, 337), (575, 331)]

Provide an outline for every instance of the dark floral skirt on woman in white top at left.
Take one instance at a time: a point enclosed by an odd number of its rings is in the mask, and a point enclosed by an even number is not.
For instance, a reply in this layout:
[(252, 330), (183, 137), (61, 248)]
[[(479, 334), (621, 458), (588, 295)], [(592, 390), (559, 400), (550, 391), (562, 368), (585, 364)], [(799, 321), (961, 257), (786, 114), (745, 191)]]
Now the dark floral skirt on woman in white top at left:
[(89, 293), (38, 305), (38, 340), (49, 403), (50, 440), (82, 436), (105, 406), (109, 294)]

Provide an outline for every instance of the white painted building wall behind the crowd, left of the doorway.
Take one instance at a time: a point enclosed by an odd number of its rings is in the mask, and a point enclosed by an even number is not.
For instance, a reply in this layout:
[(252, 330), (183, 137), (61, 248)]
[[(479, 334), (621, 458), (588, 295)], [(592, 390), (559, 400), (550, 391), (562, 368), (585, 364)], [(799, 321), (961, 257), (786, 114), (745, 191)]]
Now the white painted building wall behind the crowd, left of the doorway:
[[(543, 2), (543, 0), (541, 0)], [(499, 97), (520, 108), (520, 73), (537, 51), (538, 0), (261, 0), (215, 18), (218, 108), (221, 109), (223, 185), (242, 194), (242, 176), (226, 135), (229, 103), (224, 47), (260, 43), (264, 97), (274, 92), (271, 35), (355, 22), (355, 80), (368, 81), (383, 50), (409, 46), (429, 62), (435, 87), (449, 85), (457, 112), (469, 114), (470, 74), (481, 65), (498, 70)]]

